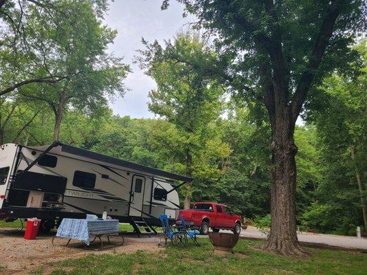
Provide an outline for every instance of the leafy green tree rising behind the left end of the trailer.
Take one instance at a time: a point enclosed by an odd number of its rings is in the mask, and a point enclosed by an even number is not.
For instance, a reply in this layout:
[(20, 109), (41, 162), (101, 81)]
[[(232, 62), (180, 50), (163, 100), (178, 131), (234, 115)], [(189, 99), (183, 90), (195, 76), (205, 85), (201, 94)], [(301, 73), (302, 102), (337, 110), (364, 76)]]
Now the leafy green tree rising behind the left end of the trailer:
[(125, 92), (123, 80), (129, 67), (107, 53), (116, 31), (101, 22), (106, 8), (105, 1), (58, 0), (52, 8), (30, 4), (17, 18), (26, 38), (12, 33), (14, 22), (3, 26), (0, 54), (7, 69), (1, 69), (0, 87), (14, 85), (18, 79), (38, 79), (14, 92), (50, 107), (56, 118), (54, 139), (59, 138), (67, 107), (96, 116), (103, 113), (108, 98)]

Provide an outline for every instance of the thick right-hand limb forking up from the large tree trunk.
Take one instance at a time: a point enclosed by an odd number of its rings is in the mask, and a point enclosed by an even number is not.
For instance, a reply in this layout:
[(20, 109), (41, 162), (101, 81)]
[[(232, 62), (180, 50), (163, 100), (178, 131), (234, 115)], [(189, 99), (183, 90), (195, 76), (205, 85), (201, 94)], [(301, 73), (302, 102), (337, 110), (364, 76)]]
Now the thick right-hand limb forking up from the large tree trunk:
[(300, 115), (302, 105), (304, 103), (304, 100), (306, 100), (306, 95), (311, 87), (313, 78), (315, 76), (315, 69), (319, 67), (326, 50), (326, 45), (333, 35), (335, 21), (339, 16), (338, 5), (339, 1), (331, 1), (331, 4), (328, 7), (328, 12), (324, 17), (324, 20), (322, 21), (319, 34), (317, 35), (317, 39), (313, 47), (313, 52), (309, 58), (308, 68), (302, 74), (300, 83), (297, 85), (297, 89), (295, 90), (295, 94), (293, 95), (291, 101), (291, 115), (293, 123), (295, 123), (298, 115)]

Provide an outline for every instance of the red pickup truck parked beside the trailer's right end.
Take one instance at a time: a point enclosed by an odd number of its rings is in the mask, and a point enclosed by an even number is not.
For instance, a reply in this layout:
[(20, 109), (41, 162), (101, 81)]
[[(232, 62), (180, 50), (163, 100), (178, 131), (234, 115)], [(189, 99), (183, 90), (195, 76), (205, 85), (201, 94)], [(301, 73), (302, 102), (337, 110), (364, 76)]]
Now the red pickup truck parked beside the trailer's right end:
[(241, 216), (222, 203), (196, 202), (193, 209), (180, 210), (178, 222), (183, 215), (187, 225), (200, 228), (200, 234), (206, 235), (209, 227), (213, 232), (220, 229), (232, 230), (234, 234), (241, 232)]

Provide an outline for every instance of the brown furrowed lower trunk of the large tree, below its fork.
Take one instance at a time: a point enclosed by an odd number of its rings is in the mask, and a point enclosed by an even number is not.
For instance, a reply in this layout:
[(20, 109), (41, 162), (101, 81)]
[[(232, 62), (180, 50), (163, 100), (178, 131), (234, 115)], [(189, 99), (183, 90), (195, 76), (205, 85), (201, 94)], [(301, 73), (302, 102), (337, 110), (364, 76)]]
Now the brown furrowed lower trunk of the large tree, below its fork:
[(295, 220), (296, 166), (293, 133), (294, 123), (289, 112), (284, 110), (273, 120), (271, 142), (271, 232), (264, 244), (266, 250), (287, 255), (300, 255)]

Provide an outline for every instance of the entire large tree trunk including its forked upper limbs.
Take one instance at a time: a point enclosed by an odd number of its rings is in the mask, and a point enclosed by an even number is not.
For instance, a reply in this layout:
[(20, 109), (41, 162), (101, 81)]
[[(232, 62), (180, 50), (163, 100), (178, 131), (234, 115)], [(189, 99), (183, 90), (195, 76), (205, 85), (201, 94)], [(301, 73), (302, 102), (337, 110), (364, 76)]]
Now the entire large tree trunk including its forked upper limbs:
[[(313, 84), (314, 74), (324, 56), (328, 41), (333, 34), (335, 21), (339, 15), (340, 3), (331, 1), (320, 25), (314, 47), (294, 93), (291, 92), (283, 49), (280, 24), (271, 22), (270, 36), (255, 34), (255, 44), (269, 60), (259, 67), (264, 104), (269, 113), (272, 130), (271, 149), (271, 233), (264, 248), (287, 255), (304, 254), (297, 240), (295, 225), (295, 154), (293, 133), (295, 122), (302, 110), (308, 90)], [(274, 1), (264, 1), (266, 13), (278, 22)], [(261, 59), (260, 59), (261, 60)]]

